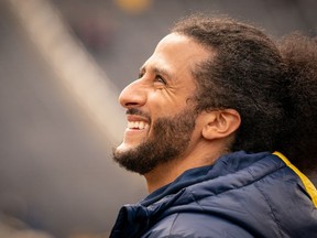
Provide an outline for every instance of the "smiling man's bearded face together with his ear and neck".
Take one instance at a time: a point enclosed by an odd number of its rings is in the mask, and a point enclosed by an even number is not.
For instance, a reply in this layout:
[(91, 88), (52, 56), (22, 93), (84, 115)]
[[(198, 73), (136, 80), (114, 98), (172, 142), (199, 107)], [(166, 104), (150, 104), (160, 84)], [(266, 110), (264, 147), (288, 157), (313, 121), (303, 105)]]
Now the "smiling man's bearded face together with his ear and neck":
[(209, 148), (205, 138), (217, 117), (234, 123), (223, 123), (227, 131), (214, 137), (225, 138), (239, 127), (240, 117), (233, 110), (223, 110), (221, 115), (198, 113), (195, 108), (197, 84), (192, 71), (209, 55), (201, 45), (193, 44), (193, 40), (170, 34), (142, 66), (140, 79), (120, 95), (120, 104), (128, 109), (128, 128), (114, 160), (130, 171), (144, 174), (150, 192), (172, 182), (185, 170), (211, 164), (222, 153), (223, 144)]

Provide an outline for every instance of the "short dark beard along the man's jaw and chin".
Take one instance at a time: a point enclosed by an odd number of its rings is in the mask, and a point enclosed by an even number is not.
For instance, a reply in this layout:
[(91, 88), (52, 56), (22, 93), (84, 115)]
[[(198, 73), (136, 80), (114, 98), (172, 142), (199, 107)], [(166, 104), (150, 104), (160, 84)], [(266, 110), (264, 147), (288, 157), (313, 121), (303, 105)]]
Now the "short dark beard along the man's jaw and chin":
[(174, 117), (158, 118), (153, 123), (152, 137), (136, 148), (113, 150), (113, 160), (125, 170), (141, 175), (175, 160), (189, 144), (196, 117), (196, 111), (187, 108)]

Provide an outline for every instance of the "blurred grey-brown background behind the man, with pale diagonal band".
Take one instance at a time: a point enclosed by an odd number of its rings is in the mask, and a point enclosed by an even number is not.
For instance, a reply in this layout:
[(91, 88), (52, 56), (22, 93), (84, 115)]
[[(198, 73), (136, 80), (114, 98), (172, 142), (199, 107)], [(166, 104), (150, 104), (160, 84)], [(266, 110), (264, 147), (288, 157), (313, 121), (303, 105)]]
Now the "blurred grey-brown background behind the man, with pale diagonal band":
[[(145, 183), (112, 162), (120, 90), (197, 11), (317, 34), (315, 0), (0, 0), (0, 237), (108, 237)], [(316, 178), (314, 178), (316, 184)]]

